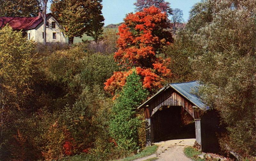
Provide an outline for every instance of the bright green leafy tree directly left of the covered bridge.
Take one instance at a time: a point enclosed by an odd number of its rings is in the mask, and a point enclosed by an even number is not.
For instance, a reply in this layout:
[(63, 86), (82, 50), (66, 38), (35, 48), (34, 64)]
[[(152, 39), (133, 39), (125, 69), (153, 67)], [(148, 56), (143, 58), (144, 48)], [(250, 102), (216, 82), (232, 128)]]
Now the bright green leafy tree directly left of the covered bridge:
[(112, 108), (110, 132), (117, 144), (126, 150), (138, 148), (138, 128), (142, 122), (136, 117), (136, 108), (148, 96), (148, 91), (142, 87), (140, 79), (135, 72), (127, 77), (126, 84)]

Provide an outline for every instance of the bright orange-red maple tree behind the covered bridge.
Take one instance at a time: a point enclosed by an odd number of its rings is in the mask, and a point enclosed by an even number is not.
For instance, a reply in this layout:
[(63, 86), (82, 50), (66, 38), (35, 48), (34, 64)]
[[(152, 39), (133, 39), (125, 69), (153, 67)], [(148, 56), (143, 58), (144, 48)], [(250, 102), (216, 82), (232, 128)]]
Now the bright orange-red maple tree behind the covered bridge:
[(114, 58), (123, 68), (114, 72), (105, 82), (105, 90), (115, 94), (120, 90), (126, 77), (136, 71), (143, 79), (143, 86), (149, 90), (160, 88), (161, 83), (171, 77), (166, 66), (170, 59), (157, 56), (165, 46), (173, 42), (166, 13), (155, 6), (144, 8), (141, 12), (129, 13), (118, 28), (118, 51)]

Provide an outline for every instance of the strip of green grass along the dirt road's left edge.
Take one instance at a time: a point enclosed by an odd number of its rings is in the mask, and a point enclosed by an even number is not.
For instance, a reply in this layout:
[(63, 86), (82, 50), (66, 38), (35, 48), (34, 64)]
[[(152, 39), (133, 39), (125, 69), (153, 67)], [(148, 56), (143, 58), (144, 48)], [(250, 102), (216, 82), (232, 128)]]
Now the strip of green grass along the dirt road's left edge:
[(142, 158), (142, 157), (147, 157), (151, 154), (154, 154), (157, 149), (158, 149), (158, 146), (156, 146), (156, 145), (148, 146), (144, 150), (142, 150), (140, 153), (138, 153), (136, 155), (133, 155), (131, 157), (127, 157), (127, 158), (124, 158), (124, 159), (119, 159), (118, 161), (132, 161), (132, 160), (139, 159), (139, 158)]

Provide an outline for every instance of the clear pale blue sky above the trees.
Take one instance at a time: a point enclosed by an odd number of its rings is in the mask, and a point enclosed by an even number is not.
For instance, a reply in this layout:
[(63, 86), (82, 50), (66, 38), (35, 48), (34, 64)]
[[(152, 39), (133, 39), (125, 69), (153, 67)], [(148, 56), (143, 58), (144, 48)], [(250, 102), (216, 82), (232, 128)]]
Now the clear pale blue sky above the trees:
[[(102, 0), (102, 14), (105, 18), (105, 26), (117, 24), (123, 21), (125, 14), (134, 12), (133, 5), (136, 0)], [(183, 11), (183, 19), (188, 20), (191, 7), (200, 0), (165, 0), (171, 3), (171, 8), (179, 8)], [(171, 18), (171, 17), (170, 17)]]

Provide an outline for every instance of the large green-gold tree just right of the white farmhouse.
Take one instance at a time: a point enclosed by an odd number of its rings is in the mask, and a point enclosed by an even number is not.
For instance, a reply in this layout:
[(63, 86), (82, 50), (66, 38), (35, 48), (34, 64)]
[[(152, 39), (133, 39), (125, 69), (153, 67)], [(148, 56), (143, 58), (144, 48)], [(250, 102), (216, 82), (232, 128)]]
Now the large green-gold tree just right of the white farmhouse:
[(102, 0), (53, 0), (51, 11), (64, 27), (64, 33), (72, 44), (74, 37), (83, 34), (98, 41), (103, 32)]

